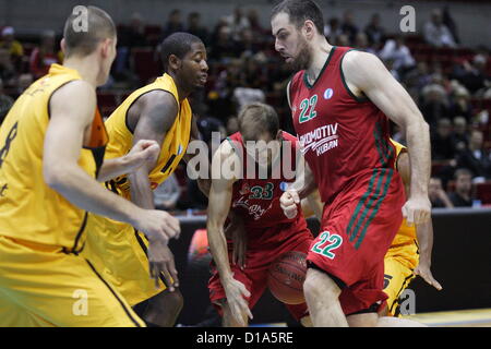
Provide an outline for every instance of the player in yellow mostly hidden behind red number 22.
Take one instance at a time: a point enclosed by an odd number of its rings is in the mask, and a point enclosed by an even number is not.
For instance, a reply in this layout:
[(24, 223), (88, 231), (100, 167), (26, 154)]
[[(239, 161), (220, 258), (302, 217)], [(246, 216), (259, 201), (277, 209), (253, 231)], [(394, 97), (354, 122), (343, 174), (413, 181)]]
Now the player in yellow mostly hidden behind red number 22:
[[(391, 141), (397, 153), (396, 169), (403, 178), (406, 195), (409, 196), (409, 156), (404, 145), (394, 140)], [(442, 289), (430, 269), (432, 249), (433, 225), (431, 219), (417, 226), (408, 226), (404, 219), (384, 258), (384, 292), (388, 299), (387, 306), (381, 311), (381, 315), (399, 315), (399, 297), (416, 275), (421, 276), (438, 290)]]

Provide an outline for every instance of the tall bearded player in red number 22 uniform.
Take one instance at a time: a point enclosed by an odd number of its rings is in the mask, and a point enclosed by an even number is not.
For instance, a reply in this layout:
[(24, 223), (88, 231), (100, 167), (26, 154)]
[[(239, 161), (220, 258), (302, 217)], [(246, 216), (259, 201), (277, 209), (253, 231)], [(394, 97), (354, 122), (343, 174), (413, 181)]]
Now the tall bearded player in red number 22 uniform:
[[(314, 326), (374, 326), (386, 299), (384, 255), (403, 220), (430, 217), (429, 128), (373, 55), (335, 47), (310, 0), (286, 0), (272, 13), (275, 48), (299, 72), (287, 93), (309, 167), (282, 196), (287, 217), (315, 183), (324, 203), (321, 233), (308, 254), (303, 286)], [(406, 131), (411, 189), (394, 170), (388, 119)]]

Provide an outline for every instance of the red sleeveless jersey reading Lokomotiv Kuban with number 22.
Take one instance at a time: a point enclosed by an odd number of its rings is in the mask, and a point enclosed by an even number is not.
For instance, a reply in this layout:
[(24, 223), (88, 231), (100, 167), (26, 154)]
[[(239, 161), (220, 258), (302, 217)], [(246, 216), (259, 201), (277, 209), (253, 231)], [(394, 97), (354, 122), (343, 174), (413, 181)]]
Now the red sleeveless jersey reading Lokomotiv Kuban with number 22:
[(347, 87), (342, 61), (348, 50), (334, 46), (313, 85), (300, 71), (289, 89), (300, 146), (326, 204), (375, 168), (393, 169), (395, 161), (387, 117)]

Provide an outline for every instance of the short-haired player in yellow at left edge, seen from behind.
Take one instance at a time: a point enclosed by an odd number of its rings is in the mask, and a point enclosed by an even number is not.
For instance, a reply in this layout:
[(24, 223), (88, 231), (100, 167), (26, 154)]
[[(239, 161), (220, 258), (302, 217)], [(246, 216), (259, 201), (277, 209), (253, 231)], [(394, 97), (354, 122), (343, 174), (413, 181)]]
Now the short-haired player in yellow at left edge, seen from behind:
[[(104, 190), (155, 157), (153, 141), (103, 165), (107, 133), (96, 112), (116, 56), (116, 28), (86, 8), (64, 26), (53, 64), (15, 101), (0, 129), (0, 326), (144, 326), (120, 293), (80, 256), (87, 212), (128, 221), (167, 242), (179, 224)], [(83, 21), (83, 20), (82, 20)], [(153, 242), (154, 243), (154, 242)]]

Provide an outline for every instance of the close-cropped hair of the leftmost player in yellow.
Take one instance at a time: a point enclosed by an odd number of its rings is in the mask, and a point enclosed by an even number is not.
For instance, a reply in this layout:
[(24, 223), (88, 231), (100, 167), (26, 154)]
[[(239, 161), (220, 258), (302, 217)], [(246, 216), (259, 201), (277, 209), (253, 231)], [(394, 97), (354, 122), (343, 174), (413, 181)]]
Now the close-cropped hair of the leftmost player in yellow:
[(76, 22), (80, 21), (79, 14), (72, 13), (63, 29), (67, 57), (72, 55), (88, 56), (96, 49), (97, 45), (107, 38), (116, 38), (116, 25), (106, 11), (87, 7), (87, 27), (86, 31), (77, 29)]

